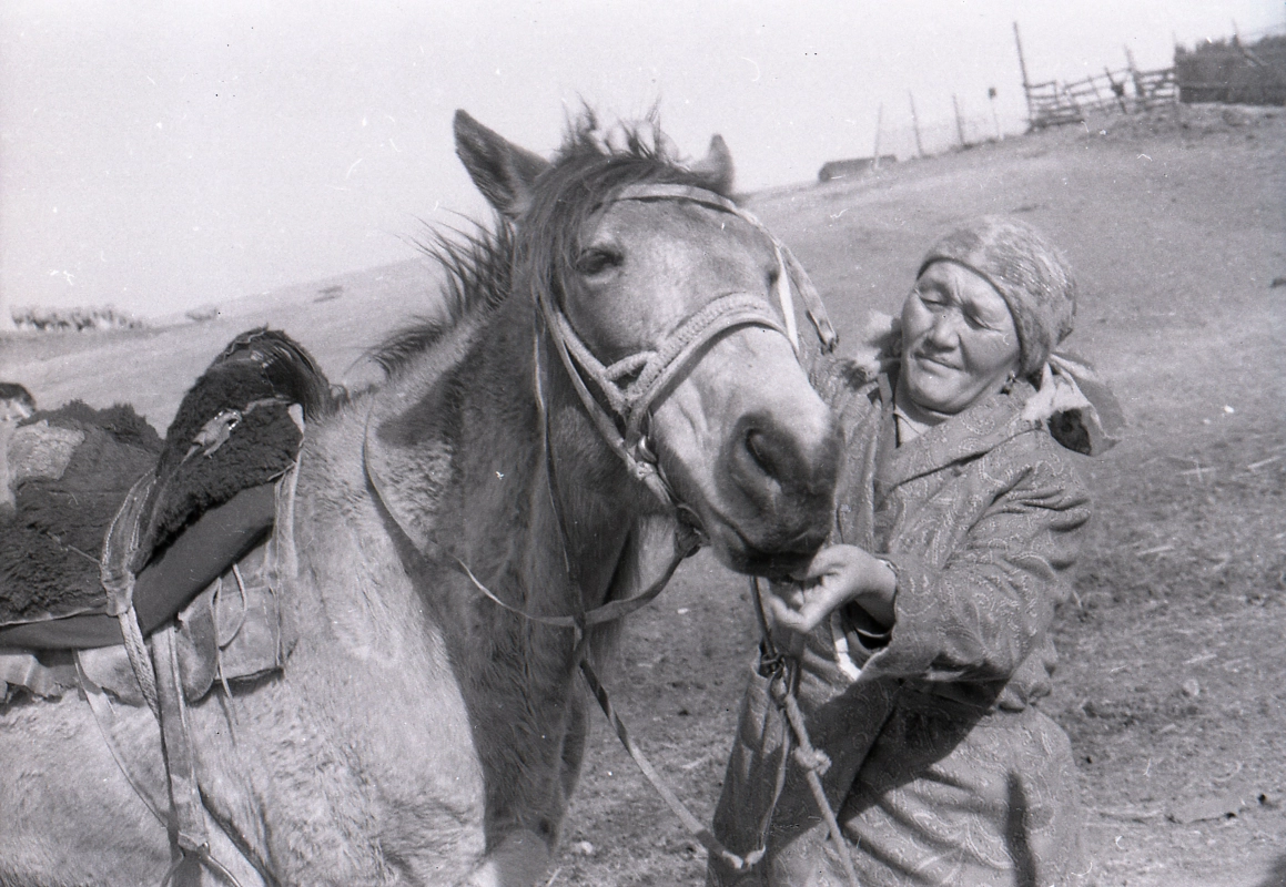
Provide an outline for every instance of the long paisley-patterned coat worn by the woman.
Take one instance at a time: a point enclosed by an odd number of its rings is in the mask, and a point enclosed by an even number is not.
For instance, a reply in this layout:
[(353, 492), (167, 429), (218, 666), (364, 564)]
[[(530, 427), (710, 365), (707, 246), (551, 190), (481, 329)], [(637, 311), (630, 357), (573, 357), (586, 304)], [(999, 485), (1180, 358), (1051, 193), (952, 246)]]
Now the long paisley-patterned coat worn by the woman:
[[(1079, 883), (1070, 744), (1033, 707), (1089, 519), (1076, 456), (1024, 417), (1024, 382), (901, 446), (892, 381), (833, 387), (847, 463), (831, 541), (898, 575), (890, 632), (849, 605), (801, 639), (799, 699), (860, 883)], [(752, 675), (715, 833), (741, 854), (766, 836), (768, 859), (739, 878), (711, 864), (712, 884), (847, 883), (793, 758), (774, 803), (784, 731)]]

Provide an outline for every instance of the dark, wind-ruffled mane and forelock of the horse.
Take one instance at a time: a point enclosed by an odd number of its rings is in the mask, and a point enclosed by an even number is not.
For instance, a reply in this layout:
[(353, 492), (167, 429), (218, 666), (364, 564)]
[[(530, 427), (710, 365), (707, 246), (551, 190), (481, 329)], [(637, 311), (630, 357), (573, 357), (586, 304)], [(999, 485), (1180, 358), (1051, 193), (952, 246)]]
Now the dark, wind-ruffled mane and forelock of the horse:
[(655, 111), (643, 121), (604, 129), (593, 111), (583, 109), (568, 120), (562, 147), (541, 174), (521, 226), (496, 215), (490, 228), (472, 221), (472, 230), (430, 229), (426, 240), (413, 240), (444, 274), (442, 315), (413, 319), (368, 356), (386, 377), (395, 375), (466, 316), (504, 303), (517, 283), (516, 269), (531, 275), (525, 283), (561, 302), (563, 275), (580, 252), (584, 222), (612, 190), (642, 183), (696, 185), (730, 197), (724, 184), (680, 165)]

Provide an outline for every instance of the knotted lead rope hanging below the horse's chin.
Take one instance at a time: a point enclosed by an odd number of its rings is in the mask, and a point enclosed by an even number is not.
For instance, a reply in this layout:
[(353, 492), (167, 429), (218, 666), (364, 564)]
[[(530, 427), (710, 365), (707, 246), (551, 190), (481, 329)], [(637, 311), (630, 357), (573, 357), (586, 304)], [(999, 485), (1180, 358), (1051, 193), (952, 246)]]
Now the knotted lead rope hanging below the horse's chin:
[[(840, 830), (840, 823), (835, 818), (835, 812), (831, 810), (831, 803), (826, 800), (826, 789), (822, 788), (822, 776), (826, 771), (831, 769), (831, 758), (826, 752), (819, 751), (813, 747), (813, 742), (808, 734), (808, 726), (804, 722), (804, 712), (800, 711), (799, 699), (796, 698), (796, 692), (799, 690), (799, 667), (800, 662), (796, 657), (788, 657), (781, 653), (775, 644), (773, 644), (772, 635), (768, 630), (768, 620), (764, 616), (764, 600), (759, 590), (759, 577), (750, 577), (750, 589), (755, 598), (755, 616), (759, 620), (759, 674), (761, 677), (768, 679), (768, 695), (772, 697), (773, 702), (786, 716), (786, 721), (791, 726), (791, 733), (795, 734), (795, 740), (797, 747), (793, 755), (790, 757), (795, 758), (795, 762), (804, 769), (804, 775), (808, 779), (808, 787), (813, 792), (813, 801), (817, 803), (818, 811), (822, 814), (822, 819), (826, 820), (826, 828), (831, 834), (831, 842), (835, 845), (835, 854), (840, 857), (841, 865), (844, 865), (844, 874), (849, 879), (850, 887), (862, 887), (858, 881), (858, 873), (853, 868), (853, 857), (849, 855), (847, 845), (844, 839), (844, 832)], [(784, 762), (787, 760), (786, 743), (782, 743), (782, 770), (784, 771)], [(778, 773), (777, 779), (777, 792), (773, 796), (773, 807), (777, 806), (777, 801), (781, 798), (782, 791), (782, 773)], [(773, 809), (769, 807), (766, 819), (770, 820), (773, 815)], [(764, 834), (766, 834), (766, 827), (764, 828)]]

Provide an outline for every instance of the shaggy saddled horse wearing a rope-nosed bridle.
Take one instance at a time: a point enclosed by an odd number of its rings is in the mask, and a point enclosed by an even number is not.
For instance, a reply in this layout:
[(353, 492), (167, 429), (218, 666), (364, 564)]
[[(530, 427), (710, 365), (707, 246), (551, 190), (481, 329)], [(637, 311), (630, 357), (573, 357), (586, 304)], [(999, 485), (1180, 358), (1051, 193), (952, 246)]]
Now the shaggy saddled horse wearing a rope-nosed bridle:
[(622, 131), (586, 112), (549, 161), (457, 112), (495, 225), (440, 237), (448, 316), (306, 424), (256, 553), (284, 666), (183, 712), (208, 843), (184, 856), (140, 801), (179, 793), (152, 712), (95, 719), (82, 684), (0, 708), (0, 884), (532, 884), (585, 751), (579, 657), (617, 631), (586, 614), (693, 540), (743, 573), (809, 562), (841, 441), (800, 270), (718, 136), (684, 166)]

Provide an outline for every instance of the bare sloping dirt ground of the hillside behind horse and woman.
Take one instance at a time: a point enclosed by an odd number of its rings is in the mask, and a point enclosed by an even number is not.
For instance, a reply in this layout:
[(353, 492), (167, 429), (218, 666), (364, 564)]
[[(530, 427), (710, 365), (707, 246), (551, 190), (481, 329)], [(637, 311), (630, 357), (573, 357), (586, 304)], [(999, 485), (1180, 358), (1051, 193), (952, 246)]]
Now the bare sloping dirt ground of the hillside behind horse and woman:
[[(1089, 121), (750, 206), (850, 337), (896, 310), (964, 217), (1016, 213), (1064, 246), (1082, 287), (1069, 346), (1130, 420), (1084, 463), (1097, 514), (1044, 703), (1078, 755), (1100, 883), (1286, 884), (1286, 113)], [(130, 400), (163, 428), (233, 334), (271, 323), (360, 384), (361, 347), (431, 310), (430, 278), (408, 264), (229, 302), (212, 323), (0, 339), (0, 378), (41, 404)], [(755, 634), (746, 581), (702, 554), (633, 620), (606, 677), (705, 819)], [(548, 884), (700, 884), (703, 869), (599, 721)]]

